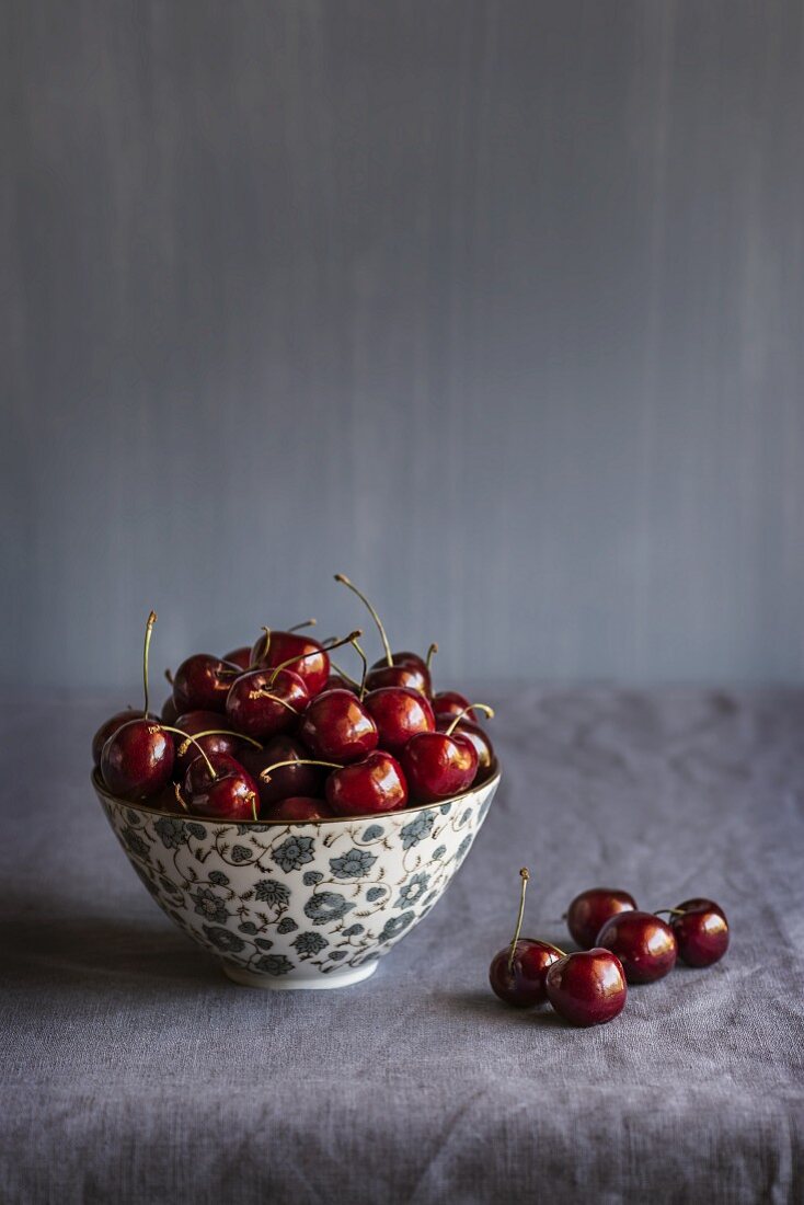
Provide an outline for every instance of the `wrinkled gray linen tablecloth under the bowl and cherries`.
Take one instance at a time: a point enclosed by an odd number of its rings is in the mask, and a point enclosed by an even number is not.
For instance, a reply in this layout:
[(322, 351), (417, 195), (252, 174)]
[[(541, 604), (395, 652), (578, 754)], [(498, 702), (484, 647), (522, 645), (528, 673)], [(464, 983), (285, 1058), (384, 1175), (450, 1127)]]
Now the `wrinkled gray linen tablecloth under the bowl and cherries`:
[[(500, 793), (374, 978), (234, 987), (88, 783), (119, 700), (4, 710), (0, 1199), (804, 1200), (804, 693), (498, 693)], [(489, 957), (585, 887), (711, 895), (732, 948), (598, 1029), (507, 1010)]]

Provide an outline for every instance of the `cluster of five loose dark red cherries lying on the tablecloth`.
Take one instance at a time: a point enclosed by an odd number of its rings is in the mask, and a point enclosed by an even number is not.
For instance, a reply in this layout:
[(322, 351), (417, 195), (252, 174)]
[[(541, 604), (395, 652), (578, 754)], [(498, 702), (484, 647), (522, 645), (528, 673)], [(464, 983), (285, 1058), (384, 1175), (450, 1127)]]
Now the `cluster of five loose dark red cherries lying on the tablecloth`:
[(550, 1001), (574, 1025), (601, 1025), (626, 1006), (628, 983), (653, 983), (681, 958), (688, 966), (711, 966), (728, 950), (723, 910), (706, 899), (674, 909), (640, 912), (628, 892), (594, 887), (570, 904), (567, 924), (582, 948), (565, 953), (548, 941), (520, 937), (528, 871), (523, 868), (520, 915), (510, 946), (488, 970), (500, 1000), (523, 1009)]

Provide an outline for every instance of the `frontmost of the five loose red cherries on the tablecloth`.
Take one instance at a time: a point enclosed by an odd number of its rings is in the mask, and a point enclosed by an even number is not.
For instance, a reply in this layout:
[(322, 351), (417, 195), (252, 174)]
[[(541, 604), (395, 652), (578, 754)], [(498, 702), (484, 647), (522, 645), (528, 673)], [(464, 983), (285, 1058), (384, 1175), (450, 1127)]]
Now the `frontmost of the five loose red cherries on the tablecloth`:
[(547, 999), (573, 1025), (604, 1025), (626, 1006), (626, 972), (610, 950), (580, 950), (547, 968)]

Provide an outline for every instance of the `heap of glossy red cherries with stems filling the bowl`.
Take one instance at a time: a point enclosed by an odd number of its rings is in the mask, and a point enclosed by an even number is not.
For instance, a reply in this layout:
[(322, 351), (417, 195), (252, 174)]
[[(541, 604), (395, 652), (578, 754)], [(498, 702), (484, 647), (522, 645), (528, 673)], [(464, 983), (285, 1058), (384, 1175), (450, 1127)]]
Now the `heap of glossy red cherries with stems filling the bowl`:
[[(172, 693), (162, 715), (148, 710), (148, 649), (157, 616), (146, 623), (145, 706), (117, 712), (95, 733), (93, 757), (104, 784), (162, 811), (230, 821), (317, 821), (369, 816), (438, 803), (494, 772), (494, 750), (477, 723), (485, 704), (456, 690), (433, 693), (427, 657), (392, 653), (382, 622), (365, 604), (385, 657), (369, 668), (360, 630), (319, 642), (301, 633), (263, 629), (253, 646), (224, 657), (195, 653), (166, 675)], [(360, 681), (330, 662), (351, 645)]]

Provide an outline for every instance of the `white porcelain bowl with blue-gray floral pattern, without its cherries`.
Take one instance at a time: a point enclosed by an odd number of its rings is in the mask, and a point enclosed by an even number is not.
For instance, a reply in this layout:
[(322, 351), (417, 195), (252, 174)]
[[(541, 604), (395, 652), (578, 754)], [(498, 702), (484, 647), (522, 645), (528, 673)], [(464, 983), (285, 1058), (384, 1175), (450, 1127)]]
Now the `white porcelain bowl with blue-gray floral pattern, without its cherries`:
[(93, 786), (164, 912), (236, 983), (346, 987), (427, 916), (486, 818), (499, 770), (446, 800), (383, 816), (233, 824), (154, 811)]

